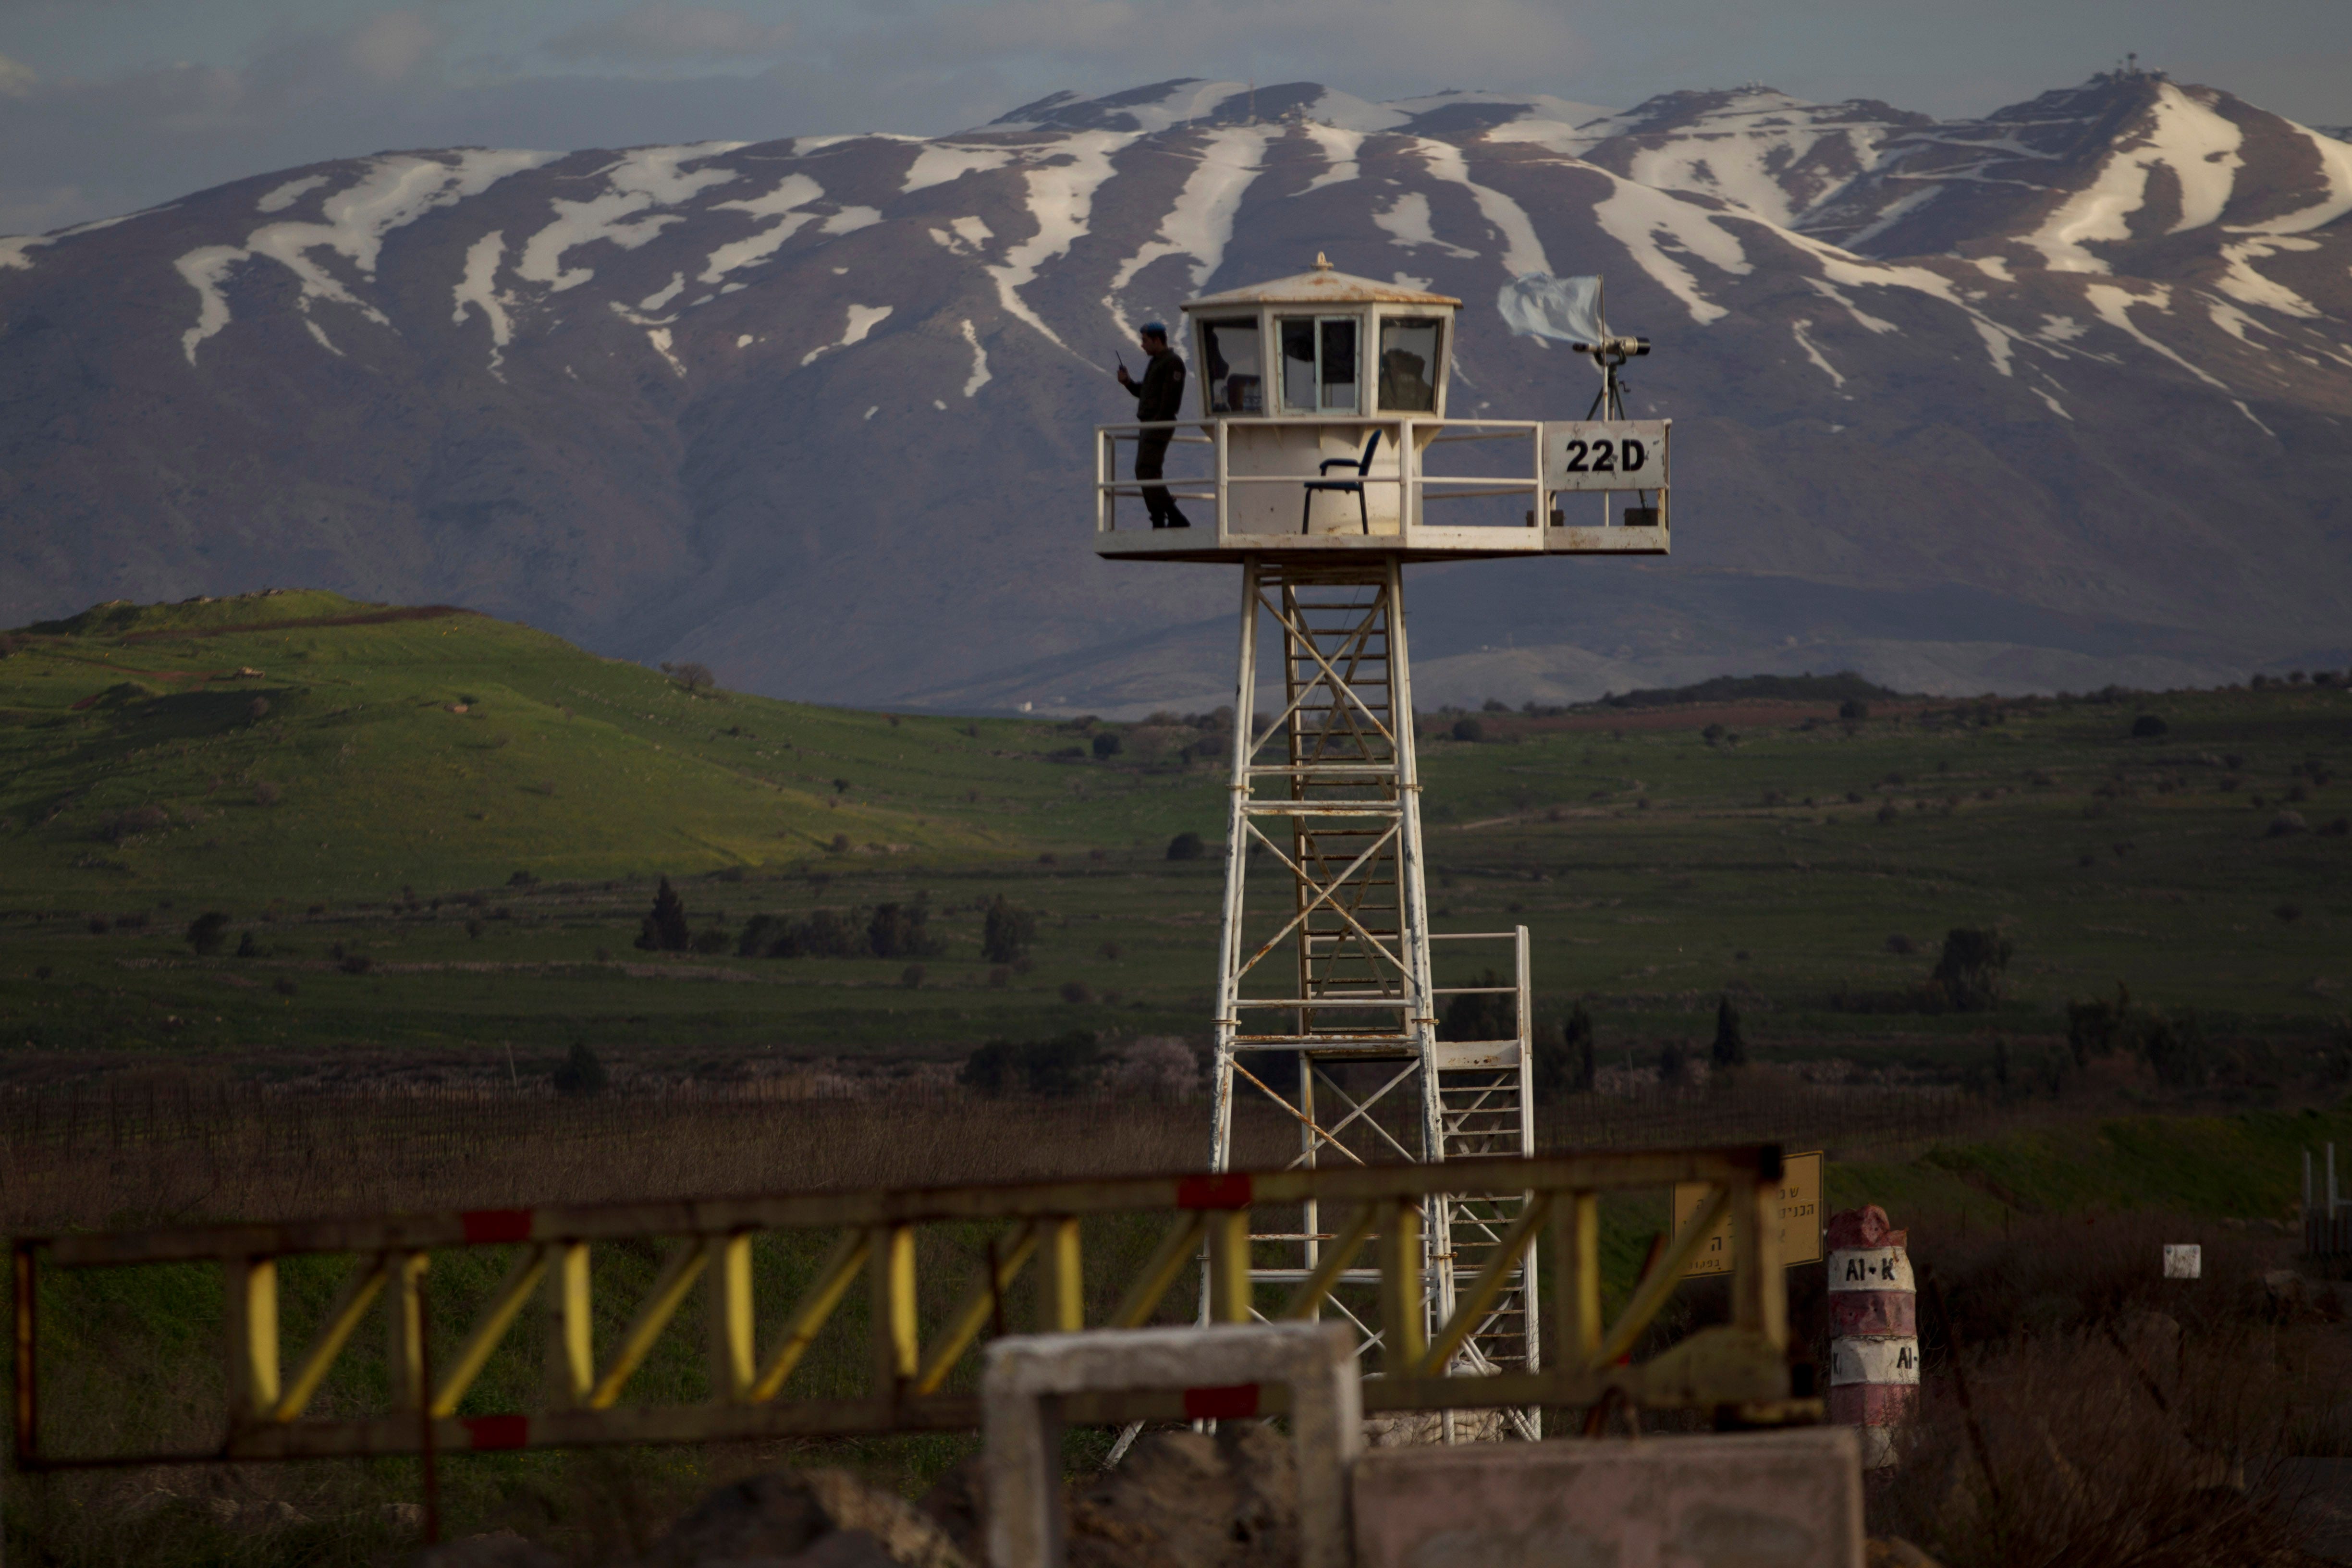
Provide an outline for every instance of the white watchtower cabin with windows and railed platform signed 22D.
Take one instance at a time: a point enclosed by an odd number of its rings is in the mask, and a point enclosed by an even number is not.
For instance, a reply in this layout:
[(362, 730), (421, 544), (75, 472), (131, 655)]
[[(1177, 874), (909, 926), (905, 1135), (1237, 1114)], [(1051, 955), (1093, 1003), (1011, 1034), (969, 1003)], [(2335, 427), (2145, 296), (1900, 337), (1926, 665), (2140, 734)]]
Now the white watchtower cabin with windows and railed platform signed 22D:
[[(1197, 418), (1096, 430), (1096, 552), (1665, 555), (1670, 421), (1449, 418), (1458, 313), (1322, 256), (1190, 301), (1178, 348)], [(1145, 433), (1169, 440), (1162, 484), (1190, 529), (1148, 527), (1131, 477)]]

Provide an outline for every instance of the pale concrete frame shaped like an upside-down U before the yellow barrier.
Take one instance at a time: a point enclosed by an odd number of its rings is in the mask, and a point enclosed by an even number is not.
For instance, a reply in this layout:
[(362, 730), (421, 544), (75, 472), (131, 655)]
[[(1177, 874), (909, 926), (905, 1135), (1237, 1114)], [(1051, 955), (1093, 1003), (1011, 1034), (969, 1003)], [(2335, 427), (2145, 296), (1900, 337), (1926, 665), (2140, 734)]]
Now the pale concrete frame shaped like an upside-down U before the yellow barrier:
[(1063, 1561), (1058, 1396), (1183, 1389), (1202, 1396), (1204, 1413), (1247, 1415), (1256, 1410), (1261, 1382), (1291, 1392), (1298, 1563), (1348, 1568), (1348, 1465), (1364, 1443), (1364, 1401), (1355, 1340), (1343, 1324), (1098, 1328), (995, 1340), (981, 1373), (990, 1568), (1058, 1568)]

